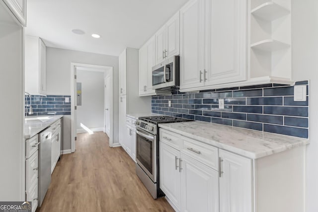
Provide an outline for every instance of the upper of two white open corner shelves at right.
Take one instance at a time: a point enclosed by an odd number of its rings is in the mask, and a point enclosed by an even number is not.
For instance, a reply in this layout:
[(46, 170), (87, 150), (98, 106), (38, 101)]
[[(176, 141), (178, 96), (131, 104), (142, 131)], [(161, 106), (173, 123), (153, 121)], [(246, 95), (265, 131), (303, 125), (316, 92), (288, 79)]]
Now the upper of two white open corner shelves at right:
[(277, 3), (269, 1), (255, 7), (250, 12), (261, 19), (272, 21), (289, 14), (290, 10)]

